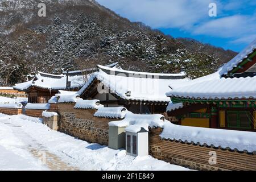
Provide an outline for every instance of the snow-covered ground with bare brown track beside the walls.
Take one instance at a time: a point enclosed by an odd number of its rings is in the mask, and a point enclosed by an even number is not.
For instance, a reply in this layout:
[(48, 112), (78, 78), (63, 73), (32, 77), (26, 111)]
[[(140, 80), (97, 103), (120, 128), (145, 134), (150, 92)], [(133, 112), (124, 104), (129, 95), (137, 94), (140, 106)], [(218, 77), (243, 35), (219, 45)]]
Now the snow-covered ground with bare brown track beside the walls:
[(188, 170), (51, 131), (39, 118), (1, 113), (0, 154), (0, 170)]

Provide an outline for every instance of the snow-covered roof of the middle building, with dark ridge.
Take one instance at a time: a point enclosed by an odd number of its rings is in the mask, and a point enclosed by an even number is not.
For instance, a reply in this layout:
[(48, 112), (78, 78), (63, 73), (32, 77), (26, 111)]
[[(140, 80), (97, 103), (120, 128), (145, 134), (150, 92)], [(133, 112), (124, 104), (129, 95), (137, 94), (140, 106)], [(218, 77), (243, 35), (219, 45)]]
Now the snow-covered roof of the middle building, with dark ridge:
[[(102, 67), (101, 67), (102, 68)], [(108, 68), (114, 71), (119, 69)], [(123, 71), (121, 71), (123, 72)], [(124, 71), (129, 72), (129, 71)], [(140, 72), (137, 72), (140, 73)], [(154, 74), (154, 73), (150, 73)], [(108, 74), (101, 69), (93, 73), (86, 84), (77, 92), (80, 96), (85, 92), (88, 86), (95, 80), (101, 81), (105, 86), (117, 94), (117, 96), (125, 100), (133, 101), (151, 101), (151, 102), (169, 102), (170, 98), (166, 96), (166, 92), (170, 90), (168, 85), (182, 85), (187, 82), (188, 79), (161, 79), (158, 78), (158, 73), (155, 73), (156, 77), (144, 77), (144, 76), (123, 76)]]

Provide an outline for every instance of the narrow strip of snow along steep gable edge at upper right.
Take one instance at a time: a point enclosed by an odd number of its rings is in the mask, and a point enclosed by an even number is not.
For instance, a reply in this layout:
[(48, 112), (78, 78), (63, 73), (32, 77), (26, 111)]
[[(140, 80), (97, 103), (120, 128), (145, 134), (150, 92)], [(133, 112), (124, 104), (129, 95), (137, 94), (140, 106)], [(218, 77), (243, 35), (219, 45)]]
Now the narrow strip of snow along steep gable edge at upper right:
[(250, 53), (256, 49), (256, 39), (249, 44), (243, 51), (241, 51), (236, 57), (222, 66), (220, 75), (226, 75), (229, 71), (232, 71), (234, 67), (237, 67)]

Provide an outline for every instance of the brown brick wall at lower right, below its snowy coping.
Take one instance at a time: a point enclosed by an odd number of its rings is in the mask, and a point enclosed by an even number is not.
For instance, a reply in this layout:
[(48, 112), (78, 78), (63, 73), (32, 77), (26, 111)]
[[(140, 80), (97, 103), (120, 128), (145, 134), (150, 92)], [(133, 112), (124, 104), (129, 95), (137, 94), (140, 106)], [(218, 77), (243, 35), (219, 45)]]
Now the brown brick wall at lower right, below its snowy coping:
[[(162, 129), (150, 129), (149, 150), (154, 158), (197, 170), (256, 170), (256, 155), (161, 140)], [(217, 164), (209, 164), (209, 152), (217, 154)]]

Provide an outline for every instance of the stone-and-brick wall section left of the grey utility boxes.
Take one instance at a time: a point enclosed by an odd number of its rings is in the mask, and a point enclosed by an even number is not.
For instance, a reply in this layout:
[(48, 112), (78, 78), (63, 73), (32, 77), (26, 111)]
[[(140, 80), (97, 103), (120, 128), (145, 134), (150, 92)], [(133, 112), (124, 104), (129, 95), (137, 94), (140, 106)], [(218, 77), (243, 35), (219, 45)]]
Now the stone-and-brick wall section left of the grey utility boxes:
[(96, 110), (73, 109), (74, 106), (75, 104), (58, 104), (59, 131), (88, 142), (108, 146), (108, 123), (117, 119), (93, 117)]

